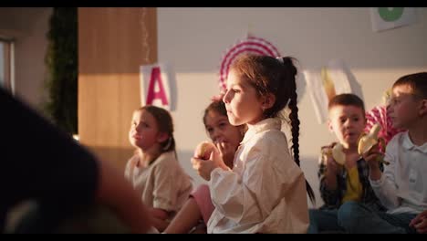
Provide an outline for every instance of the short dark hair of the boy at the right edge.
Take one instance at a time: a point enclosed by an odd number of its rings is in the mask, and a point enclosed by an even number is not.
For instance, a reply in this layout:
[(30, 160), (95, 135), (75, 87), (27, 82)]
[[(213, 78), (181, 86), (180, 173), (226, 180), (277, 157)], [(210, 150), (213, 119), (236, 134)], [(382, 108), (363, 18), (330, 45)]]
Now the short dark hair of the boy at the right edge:
[(394, 82), (393, 88), (402, 85), (411, 87), (412, 94), (416, 97), (427, 99), (427, 72), (402, 76)]

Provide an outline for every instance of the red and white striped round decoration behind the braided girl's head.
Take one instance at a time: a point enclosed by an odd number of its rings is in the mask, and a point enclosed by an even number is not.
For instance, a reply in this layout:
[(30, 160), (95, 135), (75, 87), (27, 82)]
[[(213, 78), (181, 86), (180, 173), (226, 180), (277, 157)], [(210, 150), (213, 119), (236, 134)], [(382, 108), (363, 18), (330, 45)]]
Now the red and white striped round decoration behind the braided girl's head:
[(227, 79), (230, 66), (233, 64), (235, 58), (244, 53), (265, 55), (274, 58), (280, 57), (277, 48), (261, 37), (248, 36), (244, 40), (234, 44), (234, 46), (225, 53), (221, 61), (219, 87), (222, 92), (226, 89), (225, 80)]

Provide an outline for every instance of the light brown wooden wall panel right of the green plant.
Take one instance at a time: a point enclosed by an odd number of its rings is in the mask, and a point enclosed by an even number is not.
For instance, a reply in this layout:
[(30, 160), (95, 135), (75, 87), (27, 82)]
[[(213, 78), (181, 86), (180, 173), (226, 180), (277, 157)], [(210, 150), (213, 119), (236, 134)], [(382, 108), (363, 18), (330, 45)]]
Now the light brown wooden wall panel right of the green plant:
[(141, 105), (140, 66), (156, 61), (156, 8), (78, 8), (78, 135), (118, 168), (133, 152), (128, 131)]

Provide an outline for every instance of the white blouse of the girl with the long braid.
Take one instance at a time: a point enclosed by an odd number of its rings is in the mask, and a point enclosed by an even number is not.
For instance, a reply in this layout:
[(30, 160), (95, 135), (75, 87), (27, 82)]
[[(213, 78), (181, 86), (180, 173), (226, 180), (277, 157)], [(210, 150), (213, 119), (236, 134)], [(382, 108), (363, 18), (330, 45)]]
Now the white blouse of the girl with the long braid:
[(306, 233), (306, 181), (287, 148), (279, 119), (245, 133), (233, 171), (216, 168), (210, 190), (215, 210), (208, 233)]

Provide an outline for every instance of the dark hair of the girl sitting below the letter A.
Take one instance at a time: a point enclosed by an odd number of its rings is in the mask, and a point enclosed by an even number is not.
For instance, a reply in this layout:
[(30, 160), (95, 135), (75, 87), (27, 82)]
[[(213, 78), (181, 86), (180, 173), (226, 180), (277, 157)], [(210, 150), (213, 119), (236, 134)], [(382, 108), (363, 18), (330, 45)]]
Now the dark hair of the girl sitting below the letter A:
[(153, 105), (146, 105), (138, 110), (147, 110), (151, 113), (157, 122), (159, 131), (167, 133), (169, 138), (166, 141), (161, 142), (161, 153), (175, 151), (175, 139), (173, 138), (173, 122), (171, 113), (168, 110), (164, 110), (160, 107)]

